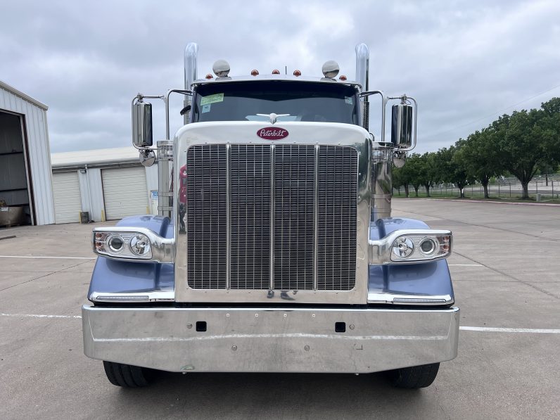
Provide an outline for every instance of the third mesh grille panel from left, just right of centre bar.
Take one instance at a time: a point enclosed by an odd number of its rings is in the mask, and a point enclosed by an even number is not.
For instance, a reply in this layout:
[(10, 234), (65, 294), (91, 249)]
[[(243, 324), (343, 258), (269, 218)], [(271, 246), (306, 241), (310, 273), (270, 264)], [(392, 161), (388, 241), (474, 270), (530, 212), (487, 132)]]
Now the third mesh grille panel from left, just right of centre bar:
[(274, 288), (311, 290), (315, 147), (274, 148)]

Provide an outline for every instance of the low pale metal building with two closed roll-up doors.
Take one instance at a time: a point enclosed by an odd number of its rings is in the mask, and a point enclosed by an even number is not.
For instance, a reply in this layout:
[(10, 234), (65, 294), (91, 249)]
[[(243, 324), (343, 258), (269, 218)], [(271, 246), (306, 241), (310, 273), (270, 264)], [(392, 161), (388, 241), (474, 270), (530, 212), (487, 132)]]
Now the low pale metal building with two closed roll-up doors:
[(158, 212), (158, 167), (144, 167), (133, 147), (53, 153), (56, 223), (96, 222)]

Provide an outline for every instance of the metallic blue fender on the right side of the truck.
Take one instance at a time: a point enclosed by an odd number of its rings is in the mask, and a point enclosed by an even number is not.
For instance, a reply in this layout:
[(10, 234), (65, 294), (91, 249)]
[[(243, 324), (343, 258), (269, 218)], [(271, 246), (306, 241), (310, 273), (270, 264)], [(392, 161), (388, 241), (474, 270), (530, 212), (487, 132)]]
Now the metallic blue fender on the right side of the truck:
[[(380, 239), (399, 229), (430, 229), (430, 227), (420, 220), (390, 217), (378, 219), (371, 224), (369, 237), (372, 240)], [(410, 295), (450, 295), (454, 299), (447, 260), (407, 265), (371, 265), (368, 290)]]

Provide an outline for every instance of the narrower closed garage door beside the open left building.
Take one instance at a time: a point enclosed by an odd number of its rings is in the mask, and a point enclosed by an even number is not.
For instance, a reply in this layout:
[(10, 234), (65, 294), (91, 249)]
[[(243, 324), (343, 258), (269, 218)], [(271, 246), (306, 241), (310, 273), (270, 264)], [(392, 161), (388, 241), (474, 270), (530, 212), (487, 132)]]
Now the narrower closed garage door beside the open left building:
[(79, 222), (82, 198), (79, 195), (78, 172), (53, 174), (54, 219), (56, 223)]

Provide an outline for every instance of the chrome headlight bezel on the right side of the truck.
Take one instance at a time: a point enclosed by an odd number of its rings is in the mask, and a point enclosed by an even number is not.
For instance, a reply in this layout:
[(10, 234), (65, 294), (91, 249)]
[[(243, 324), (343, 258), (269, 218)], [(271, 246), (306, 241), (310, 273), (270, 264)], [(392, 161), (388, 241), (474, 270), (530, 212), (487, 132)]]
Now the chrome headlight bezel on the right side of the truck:
[[(418, 264), (442, 260), (451, 255), (452, 238), (452, 232), (449, 230), (393, 231), (384, 238), (369, 241), (369, 265)], [(424, 250), (422, 244), (428, 241), (431, 242), (431, 248)], [(407, 252), (402, 252), (402, 244), (406, 244)]]

